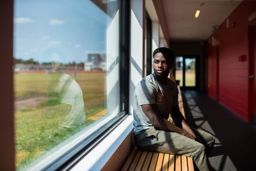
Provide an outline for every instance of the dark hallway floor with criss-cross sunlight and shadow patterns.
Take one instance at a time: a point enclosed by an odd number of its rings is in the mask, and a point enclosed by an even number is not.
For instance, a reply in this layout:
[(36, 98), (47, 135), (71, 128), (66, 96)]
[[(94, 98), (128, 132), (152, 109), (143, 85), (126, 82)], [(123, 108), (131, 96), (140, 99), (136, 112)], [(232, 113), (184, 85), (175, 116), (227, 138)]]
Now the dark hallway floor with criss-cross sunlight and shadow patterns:
[(216, 138), (209, 161), (216, 170), (255, 170), (256, 124), (232, 113), (207, 94), (182, 91), (186, 118)]

